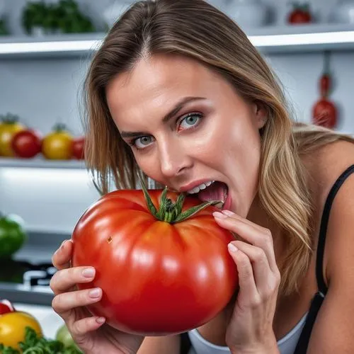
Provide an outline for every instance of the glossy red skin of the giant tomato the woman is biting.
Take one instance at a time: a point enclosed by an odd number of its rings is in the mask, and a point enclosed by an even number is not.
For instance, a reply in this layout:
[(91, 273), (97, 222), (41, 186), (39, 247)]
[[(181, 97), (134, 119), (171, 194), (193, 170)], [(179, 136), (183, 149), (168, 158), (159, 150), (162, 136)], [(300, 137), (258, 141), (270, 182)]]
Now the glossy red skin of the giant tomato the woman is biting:
[[(161, 190), (149, 190), (159, 205)], [(169, 192), (176, 200), (176, 193)], [(183, 210), (200, 205), (187, 196)], [(89, 207), (74, 228), (72, 264), (96, 268), (93, 282), (103, 297), (89, 310), (110, 326), (143, 336), (181, 333), (210, 321), (229, 302), (238, 273), (227, 244), (234, 236), (219, 227), (207, 207), (176, 224), (147, 209), (142, 190), (118, 190)]]

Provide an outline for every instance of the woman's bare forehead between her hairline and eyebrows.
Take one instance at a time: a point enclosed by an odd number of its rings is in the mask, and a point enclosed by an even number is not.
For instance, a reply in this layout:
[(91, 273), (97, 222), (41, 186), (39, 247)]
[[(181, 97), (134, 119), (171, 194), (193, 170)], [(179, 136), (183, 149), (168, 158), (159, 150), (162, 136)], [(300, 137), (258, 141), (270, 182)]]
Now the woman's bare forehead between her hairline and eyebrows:
[(164, 115), (185, 96), (210, 96), (221, 79), (200, 62), (161, 55), (137, 62), (131, 72), (115, 76), (106, 89), (108, 106), (117, 125), (127, 118)]

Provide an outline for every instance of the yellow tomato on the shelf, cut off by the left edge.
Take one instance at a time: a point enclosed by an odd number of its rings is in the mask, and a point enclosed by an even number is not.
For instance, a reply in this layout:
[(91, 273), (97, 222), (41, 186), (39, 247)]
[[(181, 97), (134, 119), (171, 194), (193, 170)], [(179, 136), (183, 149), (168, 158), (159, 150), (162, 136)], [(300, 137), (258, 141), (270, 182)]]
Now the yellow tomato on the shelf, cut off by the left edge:
[(25, 130), (25, 126), (18, 122), (18, 116), (8, 113), (0, 117), (0, 156), (12, 157), (15, 154), (11, 147), (13, 135), (21, 130)]

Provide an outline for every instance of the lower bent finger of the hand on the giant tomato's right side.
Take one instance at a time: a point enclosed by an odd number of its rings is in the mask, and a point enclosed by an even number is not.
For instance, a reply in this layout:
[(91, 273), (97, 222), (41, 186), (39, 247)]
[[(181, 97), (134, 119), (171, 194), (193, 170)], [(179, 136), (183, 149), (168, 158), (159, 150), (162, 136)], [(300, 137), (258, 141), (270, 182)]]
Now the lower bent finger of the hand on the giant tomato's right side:
[(251, 261), (257, 291), (260, 294), (263, 293), (263, 290), (268, 288), (270, 275), (272, 275), (265, 252), (263, 249), (251, 244), (246, 244), (246, 242), (243, 241), (232, 241), (232, 244), (236, 247), (236, 249), (239, 249), (239, 251), (245, 253)]

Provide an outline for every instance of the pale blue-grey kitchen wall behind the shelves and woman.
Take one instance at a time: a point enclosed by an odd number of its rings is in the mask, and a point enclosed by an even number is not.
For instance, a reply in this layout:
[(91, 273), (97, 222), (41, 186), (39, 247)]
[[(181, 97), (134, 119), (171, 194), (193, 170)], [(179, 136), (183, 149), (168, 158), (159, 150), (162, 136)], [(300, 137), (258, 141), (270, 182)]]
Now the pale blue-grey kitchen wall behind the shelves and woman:
[[(5, 2), (11, 21), (14, 21), (25, 0)], [(85, 4), (89, 13), (98, 16), (97, 23), (100, 24), (100, 13), (112, 1), (79, 2)], [(287, 9), (285, 0), (267, 2), (277, 4), (279, 13)], [(312, 1), (320, 21), (324, 21), (334, 2)], [(282, 18), (278, 16), (278, 23), (282, 22)], [(12, 25), (12, 28), (21, 34), (21, 28), (16, 25)], [(283, 81), (299, 120), (309, 121), (312, 105), (319, 97), (318, 80), (323, 59), (321, 53), (270, 55), (267, 59)], [(40, 128), (43, 133), (49, 132), (52, 125), (60, 120), (69, 125), (75, 134), (79, 134), (81, 122), (77, 95), (87, 64), (87, 60), (79, 59), (0, 58), (0, 113), (16, 113), (28, 125)], [(353, 66), (354, 51), (333, 52), (332, 72), (336, 86), (332, 97), (341, 111), (339, 129), (352, 134)], [(0, 169), (0, 210), (17, 212), (30, 227), (69, 232), (79, 215), (97, 198), (98, 194), (84, 170)]]

